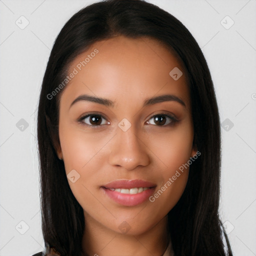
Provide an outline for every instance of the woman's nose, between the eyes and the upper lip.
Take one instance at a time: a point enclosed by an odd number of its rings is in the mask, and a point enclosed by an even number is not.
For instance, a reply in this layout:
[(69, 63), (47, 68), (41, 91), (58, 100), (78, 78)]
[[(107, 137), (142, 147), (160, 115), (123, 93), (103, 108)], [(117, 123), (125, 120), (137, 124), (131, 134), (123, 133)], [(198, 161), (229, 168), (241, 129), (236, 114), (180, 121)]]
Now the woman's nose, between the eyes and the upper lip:
[(133, 170), (137, 166), (147, 166), (150, 162), (148, 148), (132, 126), (126, 131), (117, 128), (110, 146), (108, 162), (111, 165)]

